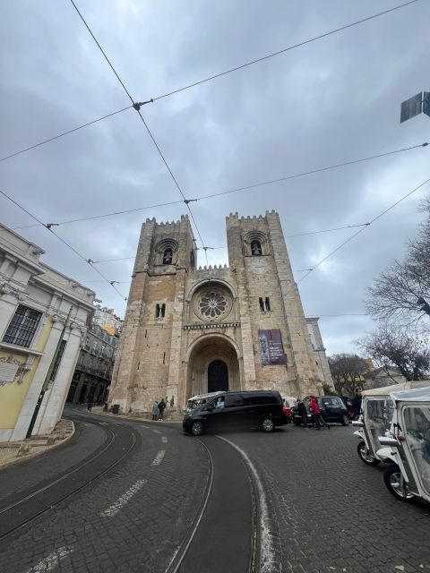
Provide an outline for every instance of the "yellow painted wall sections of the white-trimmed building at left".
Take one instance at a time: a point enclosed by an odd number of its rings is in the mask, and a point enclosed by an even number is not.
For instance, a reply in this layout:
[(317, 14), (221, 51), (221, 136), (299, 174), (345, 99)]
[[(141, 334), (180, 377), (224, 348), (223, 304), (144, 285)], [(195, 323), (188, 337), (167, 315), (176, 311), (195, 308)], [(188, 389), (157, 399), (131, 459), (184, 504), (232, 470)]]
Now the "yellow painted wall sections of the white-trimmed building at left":
[[(49, 318), (41, 332), (39, 342), (35, 350), (43, 352), (51, 329), (52, 319)], [(22, 364), (27, 360), (27, 356), (14, 354), (10, 351), (0, 351), (0, 358), (7, 358), (8, 356), (12, 356), (14, 360), (17, 360)], [(15, 423), (20, 415), (25, 397), (30, 389), (31, 381), (34, 378), (34, 373), (39, 366), (39, 362), (40, 357), (37, 356), (31, 364), (30, 371), (25, 374), (21, 384), (18, 384), (15, 378), (13, 383), (0, 387), (0, 430), (7, 430), (15, 427)]]

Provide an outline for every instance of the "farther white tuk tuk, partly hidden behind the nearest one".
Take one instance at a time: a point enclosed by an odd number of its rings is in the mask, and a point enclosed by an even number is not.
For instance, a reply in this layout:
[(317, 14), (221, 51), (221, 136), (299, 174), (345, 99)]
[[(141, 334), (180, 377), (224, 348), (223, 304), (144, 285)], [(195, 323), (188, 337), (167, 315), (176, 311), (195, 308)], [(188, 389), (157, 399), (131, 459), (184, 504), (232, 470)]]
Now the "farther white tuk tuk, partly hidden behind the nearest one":
[(377, 466), (383, 461), (377, 452), (381, 449), (380, 436), (390, 430), (391, 426), (391, 392), (425, 388), (428, 385), (429, 383), (426, 381), (409, 381), (384, 388), (368, 389), (363, 392), (360, 418), (354, 421), (352, 425), (357, 428), (354, 435), (359, 439), (357, 444), (358, 457), (367, 466)]

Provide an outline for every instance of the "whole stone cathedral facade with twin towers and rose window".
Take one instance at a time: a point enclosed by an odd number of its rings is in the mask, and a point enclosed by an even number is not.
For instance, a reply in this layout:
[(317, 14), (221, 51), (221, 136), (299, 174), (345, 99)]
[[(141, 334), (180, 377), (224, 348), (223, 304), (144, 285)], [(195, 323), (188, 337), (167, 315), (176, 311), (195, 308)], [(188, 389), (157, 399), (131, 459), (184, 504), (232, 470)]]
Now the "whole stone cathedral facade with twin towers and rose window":
[(109, 395), (121, 412), (148, 413), (166, 397), (179, 412), (219, 389), (322, 393), (321, 348), (315, 354), (278, 213), (230, 214), (226, 227), (229, 266), (197, 268), (187, 216), (142, 225)]

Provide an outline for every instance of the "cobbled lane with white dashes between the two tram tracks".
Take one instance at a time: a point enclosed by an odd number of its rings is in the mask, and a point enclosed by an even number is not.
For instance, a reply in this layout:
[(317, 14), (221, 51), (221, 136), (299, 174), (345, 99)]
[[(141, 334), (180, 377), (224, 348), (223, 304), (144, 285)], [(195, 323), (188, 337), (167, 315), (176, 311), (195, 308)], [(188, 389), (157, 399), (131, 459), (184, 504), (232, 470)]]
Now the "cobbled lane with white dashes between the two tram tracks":
[[(166, 569), (202, 498), (207, 456), (200, 442), (176, 429), (121, 423), (139, 432), (142, 446), (110, 474), (0, 542), (2, 573)], [(55, 459), (45, 459), (46, 475), (56, 473)], [(9, 471), (12, 481), (4, 487), (13, 492), (14, 475), (31, 475), (34, 462)]]

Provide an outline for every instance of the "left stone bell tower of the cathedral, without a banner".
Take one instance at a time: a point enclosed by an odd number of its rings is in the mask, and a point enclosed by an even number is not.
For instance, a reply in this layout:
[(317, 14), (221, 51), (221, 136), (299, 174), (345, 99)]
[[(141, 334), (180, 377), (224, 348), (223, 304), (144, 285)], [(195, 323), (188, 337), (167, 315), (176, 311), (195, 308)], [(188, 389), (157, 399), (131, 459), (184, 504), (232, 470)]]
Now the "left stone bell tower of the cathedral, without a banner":
[(124, 413), (147, 412), (153, 399), (177, 402), (185, 281), (195, 264), (186, 215), (171, 223), (146, 219), (109, 394)]

